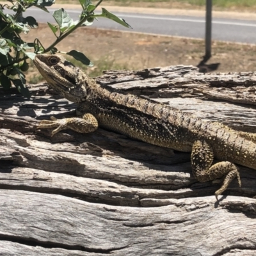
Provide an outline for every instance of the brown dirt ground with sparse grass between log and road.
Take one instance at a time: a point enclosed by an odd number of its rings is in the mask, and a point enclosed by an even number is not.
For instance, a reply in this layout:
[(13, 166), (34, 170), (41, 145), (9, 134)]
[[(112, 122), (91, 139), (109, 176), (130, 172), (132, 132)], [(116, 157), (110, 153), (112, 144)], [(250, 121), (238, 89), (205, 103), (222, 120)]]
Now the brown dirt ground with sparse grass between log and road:
[[(54, 41), (54, 35), (47, 24), (40, 24), (38, 29), (31, 30), (28, 35), (22, 35), (26, 42), (33, 42), (35, 37), (38, 37), (45, 47)], [(84, 66), (91, 76), (99, 76), (103, 69), (136, 70), (178, 64), (197, 65), (205, 51), (204, 40), (92, 28), (77, 29), (60, 42), (57, 48), (59, 51), (76, 49), (83, 52), (95, 63), (92, 68)], [(255, 71), (256, 45), (213, 42), (212, 58), (208, 63), (218, 62), (221, 63), (218, 72)], [(29, 77), (35, 78), (35, 72), (29, 70)]]

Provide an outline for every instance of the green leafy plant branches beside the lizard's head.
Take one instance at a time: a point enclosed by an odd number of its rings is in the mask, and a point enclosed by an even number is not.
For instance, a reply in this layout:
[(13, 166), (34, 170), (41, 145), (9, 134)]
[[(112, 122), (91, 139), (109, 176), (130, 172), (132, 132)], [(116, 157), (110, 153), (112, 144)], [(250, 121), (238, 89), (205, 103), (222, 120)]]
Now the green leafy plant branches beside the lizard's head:
[[(0, 4), (0, 84), (4, 89), (8, 90), (12, 84), (16, 86), (24, 97), (30, 97), (28, 88), (26, 87), (26, 78), (23, 74), (27, 71), (29, 64), (27, 59), (33, 60), (36, 54), (51, 52), (52, 54), (58, 51), (55, 47), (66, 36), (70, 35), (75, 29), (82, 26), (90, 26), (98, 17), (105, 17), (126, 28), (131, 28), (124, 19), (116, 17), (113, 13), (102, 8), (101, 14), (95, 14), (94, 11), (102, 2), (99, 1), (96, 5), (90, 0), (79, 0), (82, 10), (78, 20), (73, 20), (68, 13), (61, 8), (53, 13), (56, 24), (47, 22), (52, 33), (56, 36), (56, 40), (49, 47), (44, 47), (38, 38), (34, 42), (24, 42), (20, 33), (29, 33), (30, 29), (38, 27), (38, 23), (34, 17), (23, 17), (23, 13), (28, 8), (36, 7), (45, 12), (47, 6), (51, 6), (55, 0), (9, 0), (12, 6), (8, 4)], [(14, 14), (4, 13), (5, 9), (10, 9)], [(82, 52), (72, 50), (70, 52), (61, 52), (68, 54), (84, 65), (92, 66), (92, 62), (84, 56)]]

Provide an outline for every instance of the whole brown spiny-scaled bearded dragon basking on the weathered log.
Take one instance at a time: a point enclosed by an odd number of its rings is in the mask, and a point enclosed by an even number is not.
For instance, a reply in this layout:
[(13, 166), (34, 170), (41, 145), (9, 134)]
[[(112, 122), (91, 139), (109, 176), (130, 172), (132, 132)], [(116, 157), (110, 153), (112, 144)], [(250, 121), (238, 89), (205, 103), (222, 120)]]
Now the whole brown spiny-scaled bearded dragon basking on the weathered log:
[[(49, 86), (77, 104), (79, 117), (42, 120), (38, 128), (93, 132), (97, 127), (125, 134), (161, 147), (191, 152), (196, 180), (206, 182), (224, 177), (221, 195), (236, 177), (241, 164), (256, 170), (256, 136), (230, 129), (219, 122), (195, 118), (164, 104), (102, 86), (59, 55), (36, 55), (34, 63)], [(212, 164), (216, 157), (220, 162)]]

